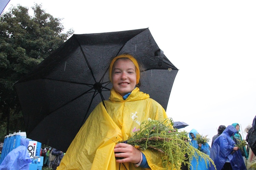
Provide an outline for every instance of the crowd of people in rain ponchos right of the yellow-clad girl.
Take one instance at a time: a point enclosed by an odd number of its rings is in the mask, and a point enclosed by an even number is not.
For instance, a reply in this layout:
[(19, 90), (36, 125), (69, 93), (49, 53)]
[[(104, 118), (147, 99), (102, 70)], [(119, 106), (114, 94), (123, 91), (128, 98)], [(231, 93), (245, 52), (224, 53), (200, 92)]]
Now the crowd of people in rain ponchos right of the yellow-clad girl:
[[(254, 118), (256, 119), (256, 117)], [(255, 121), (255, 120), (254, 120)], [(255, 129), (252, 125), (246, 126), (244, 132), (250, 133)], [(246, 170), (246, 169), (256, 169), (256, 158), (255, 154), (250, 148), (249, 142), (246, 143), (245, 140), (242, 139), (240, 132), (240, 126), (238, 123), (233, 123), (228, 125), (220, 125), (218, 128), (218, 134), (213, 136), (211, 147), (208, 145), (208, 142), (198, 143), (196, 140), (196, 136), (199, 134), (197, 130), (192, 129), (188, 136), (190, 138), (190, 145), (194, 148), (199, 149), (204, 154), (210, 156), (213, 160), (217, 170)], [(246, 140), (250, 140), (247, 135)], [(251, 135), (251, 138), (256, 138), (254, 135)], [(255, 139), (252, 140), (255, 142)], [(240, 145), (240, 143), (244, 142), (244, 145)], [(245, 147), (247, 145), (247, 147)], [(240, 146), (240, 147), (238, 147)], [(182, 170), (188, 169), (202, 169), (214, 170), (215, 167), (211, 165), (208, 160), (204, 160), (200, 156), (196, 158), (192, 157), (190, 160), (191, 166), (182, 165)]]

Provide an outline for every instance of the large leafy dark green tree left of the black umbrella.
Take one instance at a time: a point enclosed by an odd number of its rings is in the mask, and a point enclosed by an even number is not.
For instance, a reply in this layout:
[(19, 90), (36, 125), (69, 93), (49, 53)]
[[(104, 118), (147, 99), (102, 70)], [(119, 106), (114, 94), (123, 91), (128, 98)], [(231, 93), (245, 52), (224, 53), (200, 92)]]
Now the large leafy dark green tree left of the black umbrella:
[(25, 131), (14, 83), (32, 70), (73, 34), (62, 33), (61, 19), (41, 5), (13, 6), (0, 17), (0, 141), (9, 132)]

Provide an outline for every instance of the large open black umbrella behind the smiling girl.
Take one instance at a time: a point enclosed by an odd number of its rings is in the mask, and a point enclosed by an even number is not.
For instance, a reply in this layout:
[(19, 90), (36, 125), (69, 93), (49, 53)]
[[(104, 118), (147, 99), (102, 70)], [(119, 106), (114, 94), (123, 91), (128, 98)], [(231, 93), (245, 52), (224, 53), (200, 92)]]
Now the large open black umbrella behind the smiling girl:
[(91, 111), (109, 98), (109, 64), (125, 52), (144, 66), (141, 91), (166, 109), (178, 70), (148, 28), (74, 34), (15, 83), (27, 137), (66, 152)]

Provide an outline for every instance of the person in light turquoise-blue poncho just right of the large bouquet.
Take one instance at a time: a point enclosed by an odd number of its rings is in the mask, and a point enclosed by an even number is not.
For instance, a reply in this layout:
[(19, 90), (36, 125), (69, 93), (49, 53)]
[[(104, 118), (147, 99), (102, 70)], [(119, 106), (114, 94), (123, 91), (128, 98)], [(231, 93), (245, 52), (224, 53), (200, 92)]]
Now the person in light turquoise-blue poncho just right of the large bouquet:
[[(195, 129), (192, 129), (190, 132), (189, 132), (189, 138), (191, 139), (191, 145), (198, 149), (199, 147), (201, 147), (201, 152), (207, 154), (207, 155), (210, 155), (210, 149), (209, 149), (209, 145), (208, 143), (197, 143), (197, 141), (195, 140), (196, 138), (196, 134), (198, 134), (197, 130)], [(201, 158), (201, 156), (199, 156), (198, 158), (198, 162), (197, 162), (197, 159), (193, 156), (192, 160), (191, 160), (191, 166), (190, 166), (190, 169), (203, 169), (203, 170), (207, 170), (209, 169), (209, 161), (205, 161), (203, 158)], [(213, 166), (211, 166), (213, 167)]]

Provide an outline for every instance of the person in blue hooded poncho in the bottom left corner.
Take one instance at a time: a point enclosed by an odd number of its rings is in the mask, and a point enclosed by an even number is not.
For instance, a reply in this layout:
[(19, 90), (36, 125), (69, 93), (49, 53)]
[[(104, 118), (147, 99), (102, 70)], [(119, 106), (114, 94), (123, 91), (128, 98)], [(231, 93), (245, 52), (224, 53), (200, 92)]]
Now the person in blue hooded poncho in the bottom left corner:
[(20, 146), (12, 150), (4, 158), (0, 169), (11, 170), (28, 170), (29, 164), (32, 162), (28, 153), (29, 140), (25, 138), (20, 139)]

